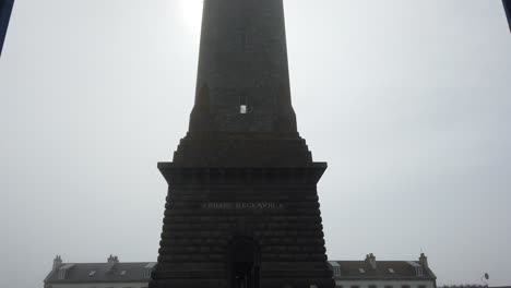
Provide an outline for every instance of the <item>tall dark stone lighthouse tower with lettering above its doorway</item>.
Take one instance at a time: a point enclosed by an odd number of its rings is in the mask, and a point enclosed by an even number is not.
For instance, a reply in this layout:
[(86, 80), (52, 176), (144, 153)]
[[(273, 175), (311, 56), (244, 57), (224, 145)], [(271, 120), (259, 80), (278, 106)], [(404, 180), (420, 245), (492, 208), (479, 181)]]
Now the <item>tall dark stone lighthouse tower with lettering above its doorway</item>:
[(297, 132), (283, 0), (204, 0), (195, 104), (173, 163), (152, 288), (332, 288)]

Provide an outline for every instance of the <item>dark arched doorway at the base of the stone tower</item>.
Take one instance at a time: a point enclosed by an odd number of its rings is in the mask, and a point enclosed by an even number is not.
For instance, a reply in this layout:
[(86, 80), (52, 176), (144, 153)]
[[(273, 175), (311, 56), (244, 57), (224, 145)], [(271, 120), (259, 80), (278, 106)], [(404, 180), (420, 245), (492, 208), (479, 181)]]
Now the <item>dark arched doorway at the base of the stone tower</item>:
[(259, 288), (259, 245), (250, 238), (234, 239), (229, 249), (231, 288)]

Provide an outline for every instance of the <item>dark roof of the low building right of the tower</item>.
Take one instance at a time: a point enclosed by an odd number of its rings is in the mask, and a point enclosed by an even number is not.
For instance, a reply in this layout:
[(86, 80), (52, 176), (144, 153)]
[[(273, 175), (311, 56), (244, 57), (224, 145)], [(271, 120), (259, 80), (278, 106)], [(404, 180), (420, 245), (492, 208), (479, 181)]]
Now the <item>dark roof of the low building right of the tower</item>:
[[(372, 254), (371, 254), (372, 256)], [(425, 279), (437, 276), (420, 261), (329, 261), (335, 279)]]

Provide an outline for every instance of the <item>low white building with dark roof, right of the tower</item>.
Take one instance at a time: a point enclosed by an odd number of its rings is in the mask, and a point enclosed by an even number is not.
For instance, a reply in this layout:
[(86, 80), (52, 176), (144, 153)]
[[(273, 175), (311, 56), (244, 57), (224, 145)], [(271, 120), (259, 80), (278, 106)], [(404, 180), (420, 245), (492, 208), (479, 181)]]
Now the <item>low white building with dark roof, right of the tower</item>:
[(437, 288), (426, 255), (418, 261), (329, 261), (337, 288)]

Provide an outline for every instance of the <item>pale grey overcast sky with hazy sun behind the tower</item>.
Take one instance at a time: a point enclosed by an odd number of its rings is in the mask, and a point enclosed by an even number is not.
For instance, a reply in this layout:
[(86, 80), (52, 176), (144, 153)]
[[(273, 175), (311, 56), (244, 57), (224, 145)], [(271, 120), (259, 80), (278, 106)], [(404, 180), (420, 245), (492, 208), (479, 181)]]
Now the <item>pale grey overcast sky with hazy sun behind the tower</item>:
[[(16, 0), (0, 59), (0, 286), (52, 259), (155, 261), (193, 104), (201, 0)], [(329, 163), (331, 260), (511, 285), (511, 35), (500, 0), (287, 0), (298, 128)]]

